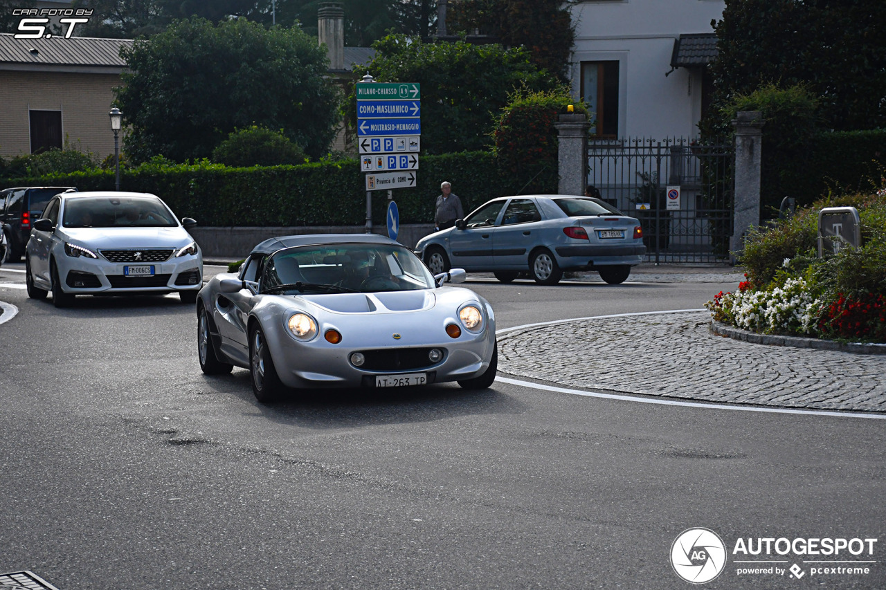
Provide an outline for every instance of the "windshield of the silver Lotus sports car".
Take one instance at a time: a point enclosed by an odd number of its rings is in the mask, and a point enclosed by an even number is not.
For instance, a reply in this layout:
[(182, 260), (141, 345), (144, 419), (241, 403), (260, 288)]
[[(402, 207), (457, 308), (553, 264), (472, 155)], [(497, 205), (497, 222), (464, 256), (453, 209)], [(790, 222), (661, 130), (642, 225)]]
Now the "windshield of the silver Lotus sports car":
[(388, 244), (295, 246), (275, 252), (261, 292), (347, 293), (433, 289), (434, 277), (408, 249)]

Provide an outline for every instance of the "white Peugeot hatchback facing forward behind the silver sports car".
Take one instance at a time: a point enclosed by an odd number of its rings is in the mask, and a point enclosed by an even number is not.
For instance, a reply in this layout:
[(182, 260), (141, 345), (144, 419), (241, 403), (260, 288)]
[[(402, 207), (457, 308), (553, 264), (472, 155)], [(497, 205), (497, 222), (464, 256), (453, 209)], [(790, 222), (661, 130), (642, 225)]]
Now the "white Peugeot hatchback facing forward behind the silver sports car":
[(177, 291), (194, 303), (203, 286), (203, 256), (188, 229), (155, 195), (63, 192), (34, 222), (25, 249), (27, 295), (56, 307), (77, 294)]

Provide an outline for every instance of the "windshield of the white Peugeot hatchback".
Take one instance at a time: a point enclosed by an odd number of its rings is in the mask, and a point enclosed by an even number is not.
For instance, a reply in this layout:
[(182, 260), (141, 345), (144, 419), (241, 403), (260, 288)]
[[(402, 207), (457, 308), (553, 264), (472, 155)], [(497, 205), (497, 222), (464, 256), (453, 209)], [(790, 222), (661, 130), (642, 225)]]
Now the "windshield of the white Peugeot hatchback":
[(66, 228), (175, 228), (178, 221), (157, 197), (77, 197), (65, 202)]

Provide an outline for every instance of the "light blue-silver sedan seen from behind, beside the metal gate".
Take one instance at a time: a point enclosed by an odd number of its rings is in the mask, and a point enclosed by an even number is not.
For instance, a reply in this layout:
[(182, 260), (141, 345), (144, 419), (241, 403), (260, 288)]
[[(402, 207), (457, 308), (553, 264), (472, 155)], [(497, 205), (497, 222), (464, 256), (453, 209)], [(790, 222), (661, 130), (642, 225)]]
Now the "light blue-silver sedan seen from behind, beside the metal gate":
[(494, 198), (455, 228), (423, 237), (416, 254), (432, 272), (451, 267), (493, 272), (502, 282), (520, 272), (556, 284), (564, 270), (595, 270), (623, 283), (646, 253), (640, 221), (598, 198), (528, 195)]

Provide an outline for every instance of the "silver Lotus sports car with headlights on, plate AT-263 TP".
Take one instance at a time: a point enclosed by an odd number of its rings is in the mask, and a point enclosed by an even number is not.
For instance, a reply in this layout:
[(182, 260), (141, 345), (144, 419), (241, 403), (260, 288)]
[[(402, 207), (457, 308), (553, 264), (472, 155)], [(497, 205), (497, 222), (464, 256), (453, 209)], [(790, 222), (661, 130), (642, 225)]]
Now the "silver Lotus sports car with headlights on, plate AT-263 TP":
[(408, 248), (373, 234), (275, 237), (238, 275), (199, 292), (200, 368), (249, 369), (260, 402), (285, 388), (401, 387), (495, 379), (493, 309), (432, 276)]

